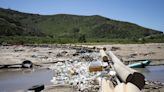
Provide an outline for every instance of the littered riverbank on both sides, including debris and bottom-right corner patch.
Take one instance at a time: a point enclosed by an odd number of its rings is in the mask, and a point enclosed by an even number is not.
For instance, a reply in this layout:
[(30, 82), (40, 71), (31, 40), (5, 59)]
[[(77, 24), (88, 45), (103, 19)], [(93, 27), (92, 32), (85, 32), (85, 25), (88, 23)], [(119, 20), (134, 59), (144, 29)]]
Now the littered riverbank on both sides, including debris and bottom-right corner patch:
[[(136, 60), (151, 60), (151, 65), (164, 64), (164, 43), (151, 44), (113, 44), (113, 45), (95, 45), (96, 47), (106, 47), (111, 50), (125, 64), (137, 62)], [(34, 64), (50, 68), (56, 62), (91, 62), (101, 61), (98, 50), (85, 50), (72, 48), (69, 45), (42, 45), (42, 46), (0, 46), (0, 64), (22, 63), (24, 60), (30, 60)], [(51, 67), (53, 68), (53, 67)], [(151, 92), (164, 89), (160, 82), (147, 82), (143, 92)], [(162, 92), (161, 91), (161, 92)], [(154, 92), (154, 91), (152, 91)]]

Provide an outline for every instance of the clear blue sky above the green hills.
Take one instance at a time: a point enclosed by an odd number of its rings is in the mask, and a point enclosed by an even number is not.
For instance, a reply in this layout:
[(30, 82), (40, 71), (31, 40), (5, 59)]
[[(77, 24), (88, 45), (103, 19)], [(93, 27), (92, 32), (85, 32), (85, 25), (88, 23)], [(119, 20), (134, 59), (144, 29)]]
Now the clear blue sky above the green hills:
[(0, 7), (44, 15), (101, 15), (164, 32), (164, 0), (0, 0)]

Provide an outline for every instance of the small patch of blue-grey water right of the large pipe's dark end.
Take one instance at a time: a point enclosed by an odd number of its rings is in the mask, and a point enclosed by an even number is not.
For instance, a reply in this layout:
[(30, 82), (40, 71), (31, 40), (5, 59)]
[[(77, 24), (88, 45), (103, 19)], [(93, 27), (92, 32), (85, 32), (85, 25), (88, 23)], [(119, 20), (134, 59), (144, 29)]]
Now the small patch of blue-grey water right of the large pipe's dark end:
[(160, 81), (164, 83), (164, 66), (147, 66), (146, 68), (135, 68), (143, 73), (148, 80)]

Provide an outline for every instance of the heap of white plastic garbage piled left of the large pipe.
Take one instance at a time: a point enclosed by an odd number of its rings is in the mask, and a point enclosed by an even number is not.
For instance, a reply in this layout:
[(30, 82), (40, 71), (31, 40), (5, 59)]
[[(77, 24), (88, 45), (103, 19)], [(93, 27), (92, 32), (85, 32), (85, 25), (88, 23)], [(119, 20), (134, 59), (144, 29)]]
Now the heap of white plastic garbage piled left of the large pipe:
[(51, 82), (54, 85), (72, 85), (79, 92), (97, 92), (99, 85), (96, 81), (101, 72), (89, 72), (90, 62), (65, 61), (53, 64), (54, 71)]

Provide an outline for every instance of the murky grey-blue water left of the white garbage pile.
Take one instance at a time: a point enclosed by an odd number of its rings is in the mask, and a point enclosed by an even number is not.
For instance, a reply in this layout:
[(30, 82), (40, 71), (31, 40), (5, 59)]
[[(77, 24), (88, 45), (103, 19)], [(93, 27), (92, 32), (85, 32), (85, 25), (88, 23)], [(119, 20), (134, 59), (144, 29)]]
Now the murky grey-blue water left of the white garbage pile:
[(0, 92), (27, 90), (39, 84), (50, 84), (53, 73), (50, 70), (0, 70)]

